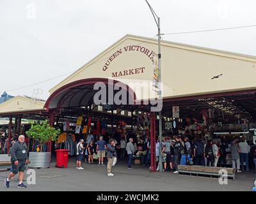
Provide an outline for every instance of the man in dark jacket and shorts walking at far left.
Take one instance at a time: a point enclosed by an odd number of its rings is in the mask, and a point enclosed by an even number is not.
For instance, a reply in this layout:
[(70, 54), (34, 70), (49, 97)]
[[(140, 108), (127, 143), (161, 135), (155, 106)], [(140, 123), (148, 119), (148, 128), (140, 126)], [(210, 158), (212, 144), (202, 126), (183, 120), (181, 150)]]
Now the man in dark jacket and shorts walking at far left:
[(4, 186), (10, 187), (10, 179), (12, 179), (19, 172), (19, 188), (26, 188), (23, 184), (23, 177), (25, 171), (25, 164), (28, 163), (27, 145), (24, 143), (25, 136), (20, 135), (18, 142), (14, 143), (11, 149), (12, 172), (7, 179), (4, 179)]

